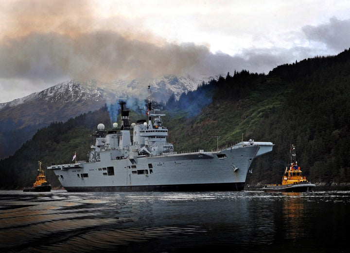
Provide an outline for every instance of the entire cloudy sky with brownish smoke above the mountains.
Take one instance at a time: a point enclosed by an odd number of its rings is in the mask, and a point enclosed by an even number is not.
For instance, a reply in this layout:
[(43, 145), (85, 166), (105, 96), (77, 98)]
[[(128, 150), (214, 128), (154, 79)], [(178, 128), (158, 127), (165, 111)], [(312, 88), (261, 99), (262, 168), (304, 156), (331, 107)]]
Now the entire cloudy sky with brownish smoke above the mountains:
[(350, 47), (350, 0), (0, 0), (0, 103), (70, 79), (268, 73)]

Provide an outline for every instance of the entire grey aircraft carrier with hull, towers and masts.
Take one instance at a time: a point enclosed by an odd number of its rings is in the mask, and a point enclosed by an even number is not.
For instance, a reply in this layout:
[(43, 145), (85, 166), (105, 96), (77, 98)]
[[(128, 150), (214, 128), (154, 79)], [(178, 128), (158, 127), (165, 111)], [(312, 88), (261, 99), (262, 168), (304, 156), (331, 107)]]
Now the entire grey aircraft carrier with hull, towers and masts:
[(220, 151), (177, 154), (167, 142), (165, 114), (151, 103), (150, 86), (148, 93), (146, 120), (130, 125), (129, 109), (121, 101), (121, 126), (114, 123), (107, 132), (98, 125), (88, 161), (48, 167), (66, 190), (243, 190), (253, 159), (272, 151), (272, 142), (250, 140)]

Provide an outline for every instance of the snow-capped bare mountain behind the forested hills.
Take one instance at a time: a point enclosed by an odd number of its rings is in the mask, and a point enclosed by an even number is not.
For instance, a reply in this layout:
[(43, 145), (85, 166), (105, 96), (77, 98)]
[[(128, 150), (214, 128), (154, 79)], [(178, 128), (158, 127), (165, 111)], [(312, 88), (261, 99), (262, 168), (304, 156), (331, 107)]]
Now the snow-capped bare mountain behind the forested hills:
[[(13, 154), (37, 129), (55, 121), (95, 111), (121, 98), (146, 99), (151, 85), (151, 98), (166, 102), (171, 95), (178, 99), (182, 93), (196, 90), (199, 85), (218, 77), (194, 79), (167, 75), (145, 82), (142, 79), (115, 80), (102, 83), (97, 80), (61, 82), (41, 92), (0, 104), (0, 158)], [(19, 134), (18, 134), (19, 132)]]

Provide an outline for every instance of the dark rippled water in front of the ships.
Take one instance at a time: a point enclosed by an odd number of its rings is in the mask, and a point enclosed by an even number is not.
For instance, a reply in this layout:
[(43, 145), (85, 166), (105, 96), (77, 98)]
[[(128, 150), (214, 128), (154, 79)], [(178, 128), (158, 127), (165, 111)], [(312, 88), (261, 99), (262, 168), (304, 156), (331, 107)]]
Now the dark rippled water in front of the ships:
[(350, 188), (0, 191), (1, 252), (348, 252)]

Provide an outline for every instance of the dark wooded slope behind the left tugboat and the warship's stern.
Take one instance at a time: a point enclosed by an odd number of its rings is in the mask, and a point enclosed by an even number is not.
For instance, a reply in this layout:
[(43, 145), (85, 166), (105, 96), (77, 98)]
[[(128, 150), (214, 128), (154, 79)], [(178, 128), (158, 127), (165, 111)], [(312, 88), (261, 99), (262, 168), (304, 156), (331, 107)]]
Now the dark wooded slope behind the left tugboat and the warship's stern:
[(0, 188), (21, 189), (35, 182), (38, 161), (42, 162), (47, 181), (53, 187), (59, 182), (46, 167), (53, 163), (71, 163), (76, 152), (78, 160), (87, 160), (88, 147), (92, 144), (91, 133), (99, 123), (110, 126), (107, 108), (84, 113), (66, 123), (55, 122), (41, 128), (11, 157), (0, 160)]

